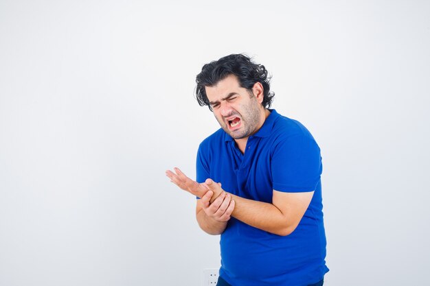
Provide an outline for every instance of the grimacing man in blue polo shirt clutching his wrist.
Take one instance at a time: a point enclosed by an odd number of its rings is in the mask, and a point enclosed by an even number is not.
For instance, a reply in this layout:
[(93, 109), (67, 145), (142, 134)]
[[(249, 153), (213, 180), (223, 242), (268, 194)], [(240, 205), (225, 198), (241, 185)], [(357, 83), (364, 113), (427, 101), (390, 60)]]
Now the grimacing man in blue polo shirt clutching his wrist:
[(199, 226), (221, 235), (218, 286), (320, 286), (326, 267), (319, 147), (304, 126), (269, 109), (267, 70), (245, 55), (205, 64), (201, 106), (221, 128), (199, 146), (196, 181), (166, 171), (196, 195)]

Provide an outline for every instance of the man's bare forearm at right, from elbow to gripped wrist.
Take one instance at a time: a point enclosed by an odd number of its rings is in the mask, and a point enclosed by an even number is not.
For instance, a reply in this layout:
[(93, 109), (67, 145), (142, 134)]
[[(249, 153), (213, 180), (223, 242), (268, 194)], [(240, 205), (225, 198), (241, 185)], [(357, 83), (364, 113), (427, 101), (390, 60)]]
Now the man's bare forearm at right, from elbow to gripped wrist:
[(231, 195), (236, 202), (232, 217), (250, 226), (265, 230), (275, 235), (289, 235), (297, 225), (288, 219), (288, 214), (282, 213), (275, 205), (267, 202), (258, 202)]

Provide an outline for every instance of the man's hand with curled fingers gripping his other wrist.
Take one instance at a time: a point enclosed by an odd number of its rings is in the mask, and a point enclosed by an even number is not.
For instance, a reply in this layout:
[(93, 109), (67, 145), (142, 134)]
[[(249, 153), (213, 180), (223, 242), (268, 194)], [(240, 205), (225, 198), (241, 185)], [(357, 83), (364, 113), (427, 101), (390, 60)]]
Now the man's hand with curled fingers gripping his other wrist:
[(229, 193), (223, 191), (211, 204), (210, 199), (212, 195), (212, 191), (207, 191), (205, 195), (203, 195), (200, 200), (201, 208), (208, 217), (215, 219), (217, 222), (227, 222), (234, 210), (234, 200), (231, 200), (231, 195)]

